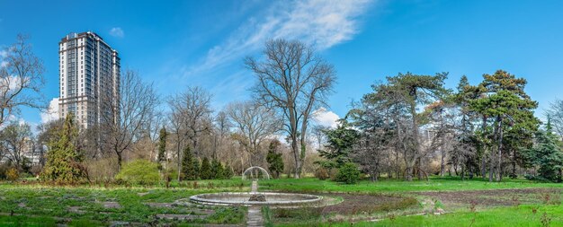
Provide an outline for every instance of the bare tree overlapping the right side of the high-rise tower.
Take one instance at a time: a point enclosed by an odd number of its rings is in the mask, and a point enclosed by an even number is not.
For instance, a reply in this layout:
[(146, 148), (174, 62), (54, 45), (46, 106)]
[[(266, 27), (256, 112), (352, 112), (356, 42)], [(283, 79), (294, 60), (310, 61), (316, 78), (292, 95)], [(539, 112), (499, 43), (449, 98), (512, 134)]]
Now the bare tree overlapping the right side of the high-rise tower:
[(141, 129), (151, 120), (158, 103), (152, 83), (144, 83), (137, 72), (127, 70), (121, 75), (121, 100), (102, 97), (103, 106), (110, 107), (101, 122), (102, 143), (117, 155), (121, 169), (122, 154), (139, 139)]

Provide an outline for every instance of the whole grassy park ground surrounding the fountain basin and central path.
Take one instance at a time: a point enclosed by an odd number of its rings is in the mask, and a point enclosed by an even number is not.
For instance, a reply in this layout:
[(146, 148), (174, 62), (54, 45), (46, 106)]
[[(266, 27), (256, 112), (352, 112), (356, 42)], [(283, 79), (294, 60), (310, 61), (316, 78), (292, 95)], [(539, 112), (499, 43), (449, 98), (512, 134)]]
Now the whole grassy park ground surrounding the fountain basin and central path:
[[(563, 184), (527, 179), (431, 178), (259, 181), (259, 191), (321, 195), (320, 207), (263, 207), (265, 226), (563, 226)], [(189, 196), (249, 191), (242, 179), (173, 182), (170, 188), (0, 183), (0, 226), (245, 226), (246, 207), (202, 206)]]

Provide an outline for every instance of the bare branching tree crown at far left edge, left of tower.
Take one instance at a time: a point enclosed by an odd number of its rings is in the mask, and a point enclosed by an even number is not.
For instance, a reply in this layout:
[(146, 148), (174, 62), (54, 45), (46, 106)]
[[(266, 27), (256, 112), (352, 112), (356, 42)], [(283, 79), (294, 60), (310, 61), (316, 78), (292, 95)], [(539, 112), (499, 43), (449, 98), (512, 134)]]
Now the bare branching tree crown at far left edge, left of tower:
[(18, 114), (20, 107), (46, 107), (40, 95), (45, 84), (43, 63), (26, 40), (27, 37), (18, 35), (17, 41), (0, 55), (0, 127)]

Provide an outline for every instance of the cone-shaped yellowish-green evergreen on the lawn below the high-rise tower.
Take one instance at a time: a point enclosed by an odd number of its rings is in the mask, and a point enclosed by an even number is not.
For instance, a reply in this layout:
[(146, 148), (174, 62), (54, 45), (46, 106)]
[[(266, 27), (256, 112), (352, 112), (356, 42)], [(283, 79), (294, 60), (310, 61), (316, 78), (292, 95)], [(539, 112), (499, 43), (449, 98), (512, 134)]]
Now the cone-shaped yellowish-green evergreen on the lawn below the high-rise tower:
[(81, 164), (82, 156), (75, 146), (77, 135), (74, 116), (69, 113), (62, 129), (58, 131), (58, 140), (48, 144), (49, 152), (41, 179), (76, 183), (86, 178), (85, 168)]

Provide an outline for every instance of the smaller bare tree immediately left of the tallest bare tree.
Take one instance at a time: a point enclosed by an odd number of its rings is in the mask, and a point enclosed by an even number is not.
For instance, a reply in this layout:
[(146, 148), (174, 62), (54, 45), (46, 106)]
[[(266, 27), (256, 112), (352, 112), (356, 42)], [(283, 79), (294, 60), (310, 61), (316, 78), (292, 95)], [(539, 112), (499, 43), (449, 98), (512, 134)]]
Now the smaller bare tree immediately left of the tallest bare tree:
[(258, 103), (244, 101), (230, 103), (227, 113), (237, 130), (233, 138), (250, 154), (250, 165), (264, 162), (260, 144), (281, 128), (281, 120), (275, 112)]

